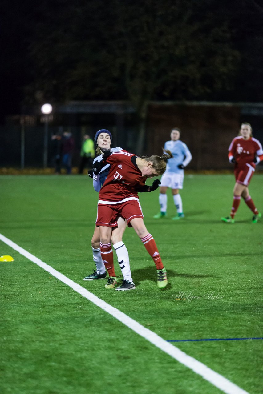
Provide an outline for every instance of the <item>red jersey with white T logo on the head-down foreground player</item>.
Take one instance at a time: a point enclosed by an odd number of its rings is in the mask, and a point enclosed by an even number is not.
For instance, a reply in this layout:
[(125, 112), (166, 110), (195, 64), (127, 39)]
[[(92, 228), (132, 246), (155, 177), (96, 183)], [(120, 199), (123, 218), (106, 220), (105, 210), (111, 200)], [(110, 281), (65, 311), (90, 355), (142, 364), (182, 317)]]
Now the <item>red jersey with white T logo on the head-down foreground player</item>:
[(125, 199), (138, 198), (135, 187), (144, 186), (146, 177), (135, 163), (136, 155), (127, 151), (112, 153), (106, 160), (110, 171), (99, 191), (99, 203), (121, 203)]

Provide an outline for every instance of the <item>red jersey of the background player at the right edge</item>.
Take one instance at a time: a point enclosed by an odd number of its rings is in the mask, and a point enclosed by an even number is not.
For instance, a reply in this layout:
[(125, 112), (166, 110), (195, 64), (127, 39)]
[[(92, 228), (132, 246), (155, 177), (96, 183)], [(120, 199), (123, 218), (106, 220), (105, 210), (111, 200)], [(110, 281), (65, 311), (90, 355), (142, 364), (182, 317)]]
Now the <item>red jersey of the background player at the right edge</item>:
[(255, 155), (261, 156), (263, 154), (261, 143), (253, 137), (244, 139), (242, 136), (235, 137), (231, 142), (229, 148), (229, 155), (235, 157), (238, 165), (246, 163), (255, 167)]

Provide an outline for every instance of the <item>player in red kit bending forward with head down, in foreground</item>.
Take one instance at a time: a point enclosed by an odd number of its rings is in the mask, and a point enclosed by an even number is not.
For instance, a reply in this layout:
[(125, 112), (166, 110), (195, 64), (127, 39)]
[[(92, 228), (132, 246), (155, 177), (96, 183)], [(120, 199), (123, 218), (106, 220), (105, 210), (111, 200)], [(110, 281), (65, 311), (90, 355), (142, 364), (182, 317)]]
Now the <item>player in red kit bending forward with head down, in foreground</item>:
[[(145, 158), (139, 158), (127, 151), (104, 154), (105, 162), (110, 164), (110, 171), (99, 191), (96, 226), (99, 227), (101, 255), (109, 275), (110, 268), (113, 265), (110, 243), (112, 229), (117, 226), (116, 218), (121, 216), (127, 220), (129, 227), (134, 228), (153, 259), (157, 269), (157, 286), (164, 288), (167, 285), (166, 269), (162, 264), (155, 240), (144, 224), (138, 191), (151, 191), (155, 188), (156, 181), (153, 182), (152, 186), (147, 186), (145, 185), (146, 179), (163, 174), (166, 170), (166, 162), (171, 157), (170, 151), (166, 151), (161, 157), (152, 155)], [(93, 169), (95, 174), (99, 172), (100, 165), (103, 165), (103, 163), (100, 162)], [(111, 280), (116, 279), (110, 275), (108, 281)]]

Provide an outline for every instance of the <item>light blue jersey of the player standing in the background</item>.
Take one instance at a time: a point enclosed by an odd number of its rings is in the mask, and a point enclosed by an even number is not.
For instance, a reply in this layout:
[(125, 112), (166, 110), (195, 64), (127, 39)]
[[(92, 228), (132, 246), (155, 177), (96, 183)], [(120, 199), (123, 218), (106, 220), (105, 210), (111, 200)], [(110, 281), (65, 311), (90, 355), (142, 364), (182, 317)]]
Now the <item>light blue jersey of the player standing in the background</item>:
[(180, 139), (177, 139), (177, 141), (166, 141), (164, 149), (168, 149), (173, 154), (173, 158), (167, 160), (166, 172), (175, 174), (183, 173), (184, 170), (178, 168), (178, 165), (183, 164), (186, 167), (192, 160), (192, 155), (187, 145), (180, 141)]

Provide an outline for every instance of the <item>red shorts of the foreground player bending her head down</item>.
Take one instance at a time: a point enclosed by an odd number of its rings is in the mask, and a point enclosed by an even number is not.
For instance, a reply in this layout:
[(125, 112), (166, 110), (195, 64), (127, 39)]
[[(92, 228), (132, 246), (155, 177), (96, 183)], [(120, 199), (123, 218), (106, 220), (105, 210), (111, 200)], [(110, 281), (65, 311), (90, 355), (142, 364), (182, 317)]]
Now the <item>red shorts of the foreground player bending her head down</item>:
[(96, 226), (118, 227), (118, 217), (127, 220), (129, 227), (130, 221), (135, 217), (143, 218), (142, 208), (138, 200), (129, 200), (121, 204), (98, 204), (98, 214)]

